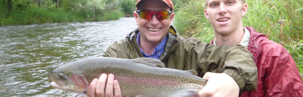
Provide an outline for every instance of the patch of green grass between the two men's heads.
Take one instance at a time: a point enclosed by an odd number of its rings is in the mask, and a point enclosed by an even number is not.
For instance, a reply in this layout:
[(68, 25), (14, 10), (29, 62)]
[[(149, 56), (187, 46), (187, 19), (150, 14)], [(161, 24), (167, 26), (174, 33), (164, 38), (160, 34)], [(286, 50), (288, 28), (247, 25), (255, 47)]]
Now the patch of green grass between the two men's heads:
[[(203, 1), (203, 2), (201, 2)], [(175, 26), (183, 37), (197, 37), (210, 42), (215, 35), (208, 20), (204, 16), (204, 0), (189, 0), (185, 7), (177, 7), (175, 12)]]

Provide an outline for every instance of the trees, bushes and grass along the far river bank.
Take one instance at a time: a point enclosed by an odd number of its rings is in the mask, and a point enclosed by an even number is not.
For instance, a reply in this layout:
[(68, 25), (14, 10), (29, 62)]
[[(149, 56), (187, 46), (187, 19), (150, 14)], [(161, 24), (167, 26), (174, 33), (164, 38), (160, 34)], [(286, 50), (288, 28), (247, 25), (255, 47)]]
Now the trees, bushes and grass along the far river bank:
[(2, 0), (0, 25), (117, 20), (134, 0)]

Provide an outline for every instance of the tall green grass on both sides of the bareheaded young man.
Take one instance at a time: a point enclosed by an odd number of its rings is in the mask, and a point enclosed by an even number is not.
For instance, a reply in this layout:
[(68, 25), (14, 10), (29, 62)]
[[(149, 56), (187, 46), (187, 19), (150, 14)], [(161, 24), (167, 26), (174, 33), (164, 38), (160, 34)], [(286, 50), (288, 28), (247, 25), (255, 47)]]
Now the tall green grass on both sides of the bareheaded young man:
[[(242, 18), (243, 26), (254, 27), (283, 45), (303, 74), (303, 0), (246, 0), (246, 3), (248, 12)], [(176, 7), (173, 23), (176, 30), (184, 37), (210, 42), (214, 33), (204, 16), (204, 0), (189, 0), (184, 5)]]

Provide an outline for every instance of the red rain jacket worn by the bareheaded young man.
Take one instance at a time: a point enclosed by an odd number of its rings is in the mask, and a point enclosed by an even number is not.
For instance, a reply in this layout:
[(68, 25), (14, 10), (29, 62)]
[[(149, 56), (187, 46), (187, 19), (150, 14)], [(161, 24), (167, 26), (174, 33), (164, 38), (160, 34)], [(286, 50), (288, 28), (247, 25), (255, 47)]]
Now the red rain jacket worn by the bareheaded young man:
[[(269, 40), (252, 27), (247, 50), (254, 56), (258, 68), (257, 90), (244, 92), (239, 97), (303, 97), (303, 82), (298, 68), (288, 51)], [(210, 44), (214, 43), (214, 39)]]

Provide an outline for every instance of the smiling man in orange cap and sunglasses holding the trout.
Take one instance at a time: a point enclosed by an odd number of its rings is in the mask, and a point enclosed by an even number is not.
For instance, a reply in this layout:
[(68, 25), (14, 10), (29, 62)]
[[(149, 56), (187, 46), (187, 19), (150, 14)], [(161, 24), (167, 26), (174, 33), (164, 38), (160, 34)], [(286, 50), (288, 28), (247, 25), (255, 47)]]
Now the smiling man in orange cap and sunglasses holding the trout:
[[(239, 91), (256, 89), (256, 65), (244, 47), (218, 47), (196, 38), (184, 39), (170, 25), (174, 18), (171, 0), (138, 0), (136, 7), (138, 29), (111, 45), (104, 57), (152, 57), (166, 68), (196, 70), (198, 76), (208, 80), (200, 97), (235, 97)], [(86, 94), (120, 97), (121, 90), (113, 74), (102, 74), (91, 82)]]

